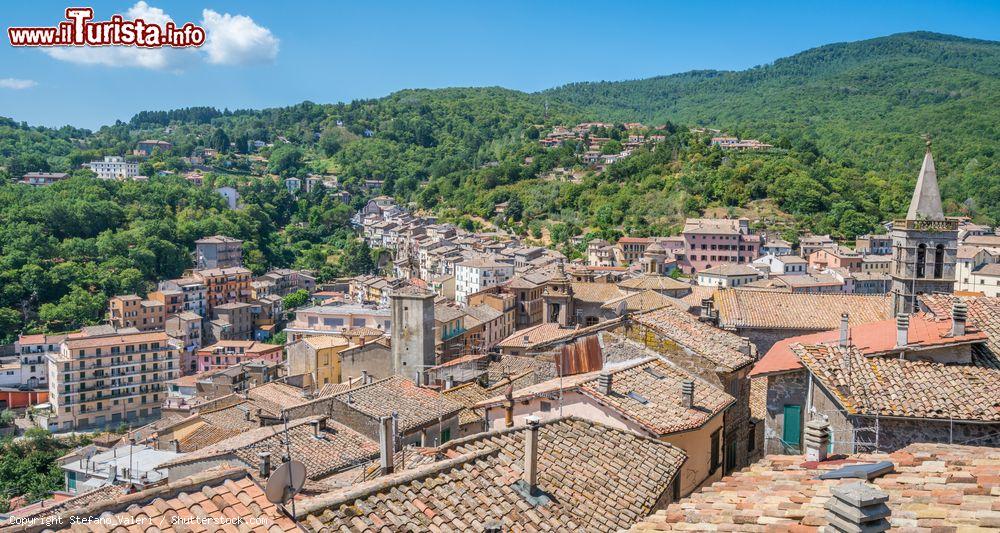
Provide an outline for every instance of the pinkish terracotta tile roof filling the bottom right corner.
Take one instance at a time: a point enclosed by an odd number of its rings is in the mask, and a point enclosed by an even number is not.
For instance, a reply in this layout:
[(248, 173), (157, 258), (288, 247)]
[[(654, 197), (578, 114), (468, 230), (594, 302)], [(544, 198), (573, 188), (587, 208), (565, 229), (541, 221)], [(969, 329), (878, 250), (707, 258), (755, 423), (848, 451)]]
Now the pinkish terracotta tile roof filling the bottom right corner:
[(772, 455), (672, 503), (632, 527), (644, 531), (821, 531), (834, 486), (856, 479), (820, 480), (845, 462), (892, 461), (895, 472), (872, 480), (889, 494), (892, 531), (996, 531), (1000, 450), (913, 444), (891, 455), (805, 463)]

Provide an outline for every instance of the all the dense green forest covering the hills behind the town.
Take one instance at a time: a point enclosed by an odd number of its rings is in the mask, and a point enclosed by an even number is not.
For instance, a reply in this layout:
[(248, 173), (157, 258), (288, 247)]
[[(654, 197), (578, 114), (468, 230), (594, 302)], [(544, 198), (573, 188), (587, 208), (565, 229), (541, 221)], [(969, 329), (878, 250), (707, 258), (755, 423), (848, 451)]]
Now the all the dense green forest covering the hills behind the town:
[[(934, 139), (950, 214), (1000, 220), (1000, 43), (927, 33), (809, 50), (742, 72), (573, 84), (527, 94), (502, 88), (405, 90), (350, 103), (263, 110), (146, 111), (97, 131), (0, 118), (0, 340), (101, 319), (107, 297), (142, 292), (190, 264), (195, 239), (246, 241), (255, 273), (291, 266), (323, 279), (370, 271), (351, 213), (382, 192), (467, 228), (494, 224), (579, 253), (576, 235), (669, 234), (686, 216), (747, 215), (794, 237), (852, 238), (906, 209)], [(582, 120), (641, 121), (665, 140), (602, 173), (582, 143), (538, 139)], [(692, 126), (775, 145), (733, 154)], [(620, 126), (594, 132), (617, 142)], [(142, 159), (148, 182), (104, 182), (81, 164), (129, 155), (142, 139), (173, 149)], [(203, 148), (205, 185), (181, 175)], [(132, 157), (132, 156), (130, 156)], [(573, 180), (553, 178), (568, 169)], [(31, 171), (73, 178), (32, 189)], [(337, 176), (295, 196), (280, 178)], [(213, 189), (234, 185), (230, 211)], [(502, 216), (495, 207), (507, 202)]]

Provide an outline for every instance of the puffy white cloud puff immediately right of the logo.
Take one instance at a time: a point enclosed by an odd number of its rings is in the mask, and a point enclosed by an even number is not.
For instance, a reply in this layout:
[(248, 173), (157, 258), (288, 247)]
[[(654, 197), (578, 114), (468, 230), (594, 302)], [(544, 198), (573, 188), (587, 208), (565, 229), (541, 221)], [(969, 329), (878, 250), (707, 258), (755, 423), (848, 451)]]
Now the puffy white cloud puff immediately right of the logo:
[(270, 63), (278, 56), (278, 38), (271, 30), (244, 15), (201, 12), (201, 25), (207, 39), (202, 50), (208, 62), (216, 65)]

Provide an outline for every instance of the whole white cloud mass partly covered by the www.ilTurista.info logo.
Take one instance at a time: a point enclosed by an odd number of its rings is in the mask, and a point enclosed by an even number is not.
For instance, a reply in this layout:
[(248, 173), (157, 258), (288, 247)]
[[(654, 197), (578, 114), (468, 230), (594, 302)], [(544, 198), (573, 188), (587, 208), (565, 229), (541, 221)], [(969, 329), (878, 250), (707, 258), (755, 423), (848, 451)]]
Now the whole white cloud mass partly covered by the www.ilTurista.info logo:
[[(138, 48), (134, 46), (69, 46), (43, 48), (60, 61), (81, 65), (181, 70), (199, 56), (209, 63), (243, 65), (268, 63), (278, 54), (278, 38), (271, 30), (243, 15), (220, 15), (211, 9), (202, 11), (201, 26), (207, 42), (200, 48)], [(101, 18), (101, 17), (95, 17)], [(173, 20), (164, 10), (140, 0), (126, 13), (126, 19), (141, 18), (147, 23), (166, 24)]]

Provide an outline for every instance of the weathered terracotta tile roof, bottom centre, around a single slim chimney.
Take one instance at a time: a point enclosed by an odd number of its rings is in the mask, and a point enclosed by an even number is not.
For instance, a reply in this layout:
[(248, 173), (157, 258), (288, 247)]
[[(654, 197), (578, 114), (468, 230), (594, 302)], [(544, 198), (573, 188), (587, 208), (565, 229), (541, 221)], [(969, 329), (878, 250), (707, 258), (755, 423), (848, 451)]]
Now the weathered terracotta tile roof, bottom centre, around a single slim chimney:
[(613, 531), (648, 514), (669, 490), (685, 455), (673, 446), (576, 418), (539, 429), (539, 489), (529, 502), (524, 428), (451, 441), (447, 457), (346, 491), (299, 503), (311, 531)]

